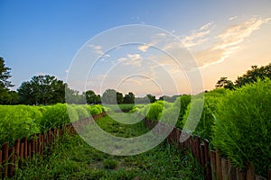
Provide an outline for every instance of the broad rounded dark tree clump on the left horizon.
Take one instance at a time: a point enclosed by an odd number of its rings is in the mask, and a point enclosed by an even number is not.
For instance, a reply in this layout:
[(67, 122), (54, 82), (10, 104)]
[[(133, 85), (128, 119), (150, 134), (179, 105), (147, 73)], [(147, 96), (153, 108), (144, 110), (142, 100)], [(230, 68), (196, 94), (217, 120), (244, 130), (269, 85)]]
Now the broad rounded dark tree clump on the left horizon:
[(33, 76), (17, 89), (20, 102), (25, 104), (52, 104), (65, 102), (65, 84), (55, 76)]

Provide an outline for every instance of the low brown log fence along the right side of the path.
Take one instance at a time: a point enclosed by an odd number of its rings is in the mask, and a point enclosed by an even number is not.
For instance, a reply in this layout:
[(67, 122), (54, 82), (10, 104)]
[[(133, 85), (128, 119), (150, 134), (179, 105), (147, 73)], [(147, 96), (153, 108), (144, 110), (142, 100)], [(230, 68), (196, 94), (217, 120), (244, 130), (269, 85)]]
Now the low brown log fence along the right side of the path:
[[(157, 124), (159, 123), (159, 124)], [(146, 120), (145, 124), (148, 128), (153, 129), (154, 126), (160, 126), (160, 132), (163, 128), (170, 128), (162, 122)], [(166, 127), (167, 126), (167, 127)], [(232, 166), (229, 159), (220, 157), (218, 151), (210, 149), (210, 142), (207, 139), (201, 140), (199, 136), (187, 135), (187, 139), (180, 142), (182, 130), (172, 127), (173, 129), (167, 140), (170, 144), (175, 143), (178, 148), (188, 148), (192, 150), (193, 157), (195, 157), (204, 167), (205, 179), (208, 180), (266, 180), (265, 177), (256, 175), (253, 166), (247, 166), (246, 172), (241, 171), (239, 168)], [(159, 135), (159, 131), (157, 133)], [(183, 133), (185, 136), (185, 133)], [(183, 135), (182, 134), (182, 135)], [(182, 137), (181, 137), (182, 138)], [(271, 180), (271, 169), (268, 170), (267, 179)]]

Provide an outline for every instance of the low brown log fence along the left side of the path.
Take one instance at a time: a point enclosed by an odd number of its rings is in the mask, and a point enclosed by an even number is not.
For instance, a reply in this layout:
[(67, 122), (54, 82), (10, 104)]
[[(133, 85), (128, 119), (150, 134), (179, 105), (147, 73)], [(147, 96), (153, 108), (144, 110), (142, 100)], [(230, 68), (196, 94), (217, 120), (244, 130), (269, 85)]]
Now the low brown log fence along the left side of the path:
[[(92, 117), (97, 120), (105, 114), (102, 112)], [(39, 134), (33, 134), (29, 138), (15, 139), (13, 147), (5, 142), (0, 148), (0, 179), (13, 176), (15, 168), (22, 167), (23, 159), (32, 158), (36, 154), (43, 157), (46, 151), (54, 147), (56, 139), (61, 138), (64, 131), (68, 131), (70, 134), (76, 133), (77, 128), (85, 126), (89, 121), (89, 118), (85, 118), (58, 129), (52, 128)]]

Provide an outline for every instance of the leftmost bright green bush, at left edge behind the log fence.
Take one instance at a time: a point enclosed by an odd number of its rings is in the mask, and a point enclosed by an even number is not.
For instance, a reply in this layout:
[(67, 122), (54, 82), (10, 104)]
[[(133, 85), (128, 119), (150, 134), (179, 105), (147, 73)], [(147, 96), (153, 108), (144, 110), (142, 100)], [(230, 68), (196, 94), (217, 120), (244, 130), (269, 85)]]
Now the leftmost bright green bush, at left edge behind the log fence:
[(0, 106), (0, 145), (40, 132), (39, 122), (46, 108), (27, 105)]

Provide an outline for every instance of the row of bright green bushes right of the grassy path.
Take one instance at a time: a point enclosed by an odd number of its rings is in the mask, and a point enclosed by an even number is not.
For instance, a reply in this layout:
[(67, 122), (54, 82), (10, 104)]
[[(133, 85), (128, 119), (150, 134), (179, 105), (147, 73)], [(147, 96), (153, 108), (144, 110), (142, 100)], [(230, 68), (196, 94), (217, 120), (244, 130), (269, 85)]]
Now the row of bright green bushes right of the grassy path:
[(150, 120), (173, 121), (179, 111), (176, 127), (189, 130), (187, 122), (194, 121), (189, 118), (190, 110), (199, 108), (200, 112), (200, 104), (204, 103), (201, 119), (192, 133), (210, 139), (211, 148), (229, 157), (235, 166), (245, 168), (249, 162), (256, 167), (257, 174), (266, 175), (271, 168), (270, 87), (270, 79), (258, 80), (234, 91), (215, 89), (205, 93), (204, 99), (182, 95), (174, 103), (158, 101), (135, 106), (132, 112)]

